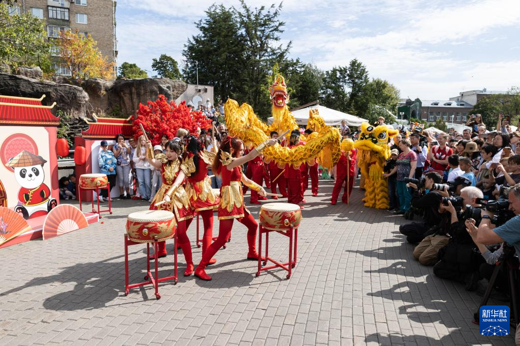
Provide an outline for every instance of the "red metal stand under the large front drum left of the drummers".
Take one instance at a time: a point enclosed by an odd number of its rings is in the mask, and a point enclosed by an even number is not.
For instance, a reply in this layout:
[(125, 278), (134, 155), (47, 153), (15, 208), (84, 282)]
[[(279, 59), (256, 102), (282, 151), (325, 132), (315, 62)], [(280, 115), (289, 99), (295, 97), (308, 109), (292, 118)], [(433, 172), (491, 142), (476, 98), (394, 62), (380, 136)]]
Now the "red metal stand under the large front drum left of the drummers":
[[(155, 238), (155, 240), (153, 241), (153, 250), (155, 251), (155, 254), (158, 253), (158, 240), (157, 240), (157, 237)], [(130, 289), (131, 288), (135, 288), (135, 287), (141, 287), (141, 286), (145, 286), (145, 285), (153, 285), (153, 287), (155, 288), (155, 298), (157, 299), (161, 299), (161, 295), (159, 294), (159, 283), (160, 282), (163, 282), (163, 281), (166, 281), (166, 280), (174, 280), (174, 285), (177, 284), (177, 282), (179, 282), (179, 280), (177, 279), (177, 233), (175, 233), (175, 237), (174, 237), (174, 275), (173, 276), (165, 276), (164, 278), (159, 278), (159, 267), (158, 267), (158, 264), (159, 264), (159, 261), (158, 261), (158, 256), (154, 256), (155, 259), (154, 259), (154, 262), (155, 262), (155, 268), (154, 268), (154, 273), (155, 275), (152, 275), (151, 271), (150, 271), (150, 243), (146, 243), (146, 276), (145, 276), (145, 280), (144, 282), (140, 282), (138, 284), (128, 284), (128, 246), (130, 245), (136, 245), (136, 244), (142, 244), (142, 243), (137, 243), (137, 242), (134, 242), (134, 241), (131, 241), (128, 239), (128, 234), (125, 233), (125, 296), (128, 295), (128, 293), (130, 292)]]

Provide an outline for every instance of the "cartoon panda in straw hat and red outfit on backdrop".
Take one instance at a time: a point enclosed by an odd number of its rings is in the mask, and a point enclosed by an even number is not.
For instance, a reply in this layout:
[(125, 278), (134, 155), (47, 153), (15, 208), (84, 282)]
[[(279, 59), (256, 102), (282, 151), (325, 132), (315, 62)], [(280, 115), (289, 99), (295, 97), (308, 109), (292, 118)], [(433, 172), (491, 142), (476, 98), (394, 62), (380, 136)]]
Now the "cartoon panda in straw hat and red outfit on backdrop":
[(46, 162), (41, 156), (23, 150), (7, 163), (15, 170), (16, 181), (21, 186), (15, 212), (24, 219), (45, 215), (58, 204), (56, 199), (51, 198), (49, 187), (43, 183), (43, 164)]

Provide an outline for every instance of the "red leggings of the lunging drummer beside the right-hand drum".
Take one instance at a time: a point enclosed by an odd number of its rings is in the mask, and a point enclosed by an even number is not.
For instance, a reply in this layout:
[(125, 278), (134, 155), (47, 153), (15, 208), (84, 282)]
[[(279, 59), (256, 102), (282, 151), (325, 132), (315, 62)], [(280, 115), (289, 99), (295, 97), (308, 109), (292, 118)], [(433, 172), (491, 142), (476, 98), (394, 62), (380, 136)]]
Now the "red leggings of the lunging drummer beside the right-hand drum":
[[(215, 240), (210, 247), (207, 248), (207, 251), (202, 255), (202, 260), (200, 261), (201, 265), (206, 266), (207, 262), (215, 256), (218, 249), (222, 247), (231, 236), (231, 228), (233, 227), (234, 219), (225, 219), (220, 220), (218, 226), (218, 238)], [(238, 219), (242, 225), (248, 228), (248, 247), (249, 253), (256, 253), (256, 230), (258, 229), (258, 224), (256, 223), (253, 216), (246, 212), (245, 216)]]

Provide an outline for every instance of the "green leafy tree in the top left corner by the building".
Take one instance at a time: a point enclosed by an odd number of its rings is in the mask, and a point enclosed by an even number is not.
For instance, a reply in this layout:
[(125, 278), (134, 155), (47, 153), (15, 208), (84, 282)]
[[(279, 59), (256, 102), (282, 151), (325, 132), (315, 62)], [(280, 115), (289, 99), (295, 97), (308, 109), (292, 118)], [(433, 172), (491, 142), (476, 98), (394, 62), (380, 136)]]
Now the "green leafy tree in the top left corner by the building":
[[(49, 67), (49, 49), (45, 24), (30, 12), (9, 13), (7, 4), (0, 4), (0, 62), (11, 65)], [(47, 68), (46, 68), (47, 67)]]

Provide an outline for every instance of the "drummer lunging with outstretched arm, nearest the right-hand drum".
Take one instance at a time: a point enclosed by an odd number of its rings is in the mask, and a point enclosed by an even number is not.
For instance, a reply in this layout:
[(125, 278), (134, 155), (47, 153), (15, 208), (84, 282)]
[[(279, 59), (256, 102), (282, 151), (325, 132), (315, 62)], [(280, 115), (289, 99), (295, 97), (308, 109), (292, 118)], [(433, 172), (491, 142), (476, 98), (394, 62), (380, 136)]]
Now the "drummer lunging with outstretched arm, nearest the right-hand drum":
[(266, 146), (272, 146), (277, 143), (274, 139), (264, 141), (246, 156), (242, 156), (244, 144), (235, 137), (228, 137), (220, 145), (217, 159), (212, 166), (212, 171), (222, 177), (220, 204), (218, 205), (218, 238), (206, 250), (199, 266), (195, 269), (195, 276), (198, 276), (200, 279), (211, 280), (211, 276), (207, 275), (204, 269), (218, 249), (229, 239), (234, 219), (238, 219), (241, 224), (248, 228), (249, 252), (247, 258), (258, 260), (259, 255), (255, 246), (258, 224), (244, 206), (244, 196), (240, 182), (257, 191), (260, 196), (266, 196), (266, 192), (261, 186), (245, 177), (241, 166), (245, 162), (257, 157)]

